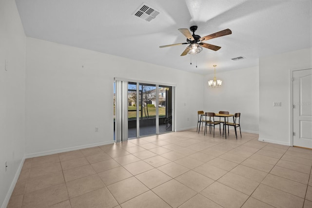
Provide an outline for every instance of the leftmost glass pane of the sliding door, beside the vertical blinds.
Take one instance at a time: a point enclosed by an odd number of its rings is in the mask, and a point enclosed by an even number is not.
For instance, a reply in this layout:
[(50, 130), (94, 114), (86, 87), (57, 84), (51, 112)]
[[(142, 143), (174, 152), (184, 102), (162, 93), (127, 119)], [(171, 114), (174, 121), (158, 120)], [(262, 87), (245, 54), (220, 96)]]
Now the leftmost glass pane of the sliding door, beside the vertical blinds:
[(137, 137), (137, 83), (128, 83), (128, 138)]

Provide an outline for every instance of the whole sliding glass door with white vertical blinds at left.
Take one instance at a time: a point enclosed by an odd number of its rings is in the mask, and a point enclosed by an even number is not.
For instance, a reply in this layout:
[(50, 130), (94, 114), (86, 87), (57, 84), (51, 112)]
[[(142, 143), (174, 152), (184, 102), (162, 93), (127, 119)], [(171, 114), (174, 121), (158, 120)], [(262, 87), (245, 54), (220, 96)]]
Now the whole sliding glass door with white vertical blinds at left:
[(120, 90), (114, 94), (114, 101), (119, 101), (116, 102), (117, 142), (174, 130), (173, 86), (116, 82), (120, 85)]

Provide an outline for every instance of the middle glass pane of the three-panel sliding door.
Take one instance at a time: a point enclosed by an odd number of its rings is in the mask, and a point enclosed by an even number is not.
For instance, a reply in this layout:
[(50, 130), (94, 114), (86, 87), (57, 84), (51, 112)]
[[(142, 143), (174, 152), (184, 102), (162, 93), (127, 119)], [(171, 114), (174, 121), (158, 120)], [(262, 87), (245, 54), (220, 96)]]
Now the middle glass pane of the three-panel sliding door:
[(156, 106), (156, 85), (140, 83), (140, 136), (156, 134)]

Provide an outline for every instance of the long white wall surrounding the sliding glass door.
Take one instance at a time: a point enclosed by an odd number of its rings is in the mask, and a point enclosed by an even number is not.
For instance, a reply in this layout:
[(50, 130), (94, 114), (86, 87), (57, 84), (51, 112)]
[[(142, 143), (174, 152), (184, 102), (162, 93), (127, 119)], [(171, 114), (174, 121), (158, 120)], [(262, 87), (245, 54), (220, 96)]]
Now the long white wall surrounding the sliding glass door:
[(114, 77), (176, 84), (176, 129), (196, 125), (203, 76), (26, 39), (27, 157), (112, 143)]

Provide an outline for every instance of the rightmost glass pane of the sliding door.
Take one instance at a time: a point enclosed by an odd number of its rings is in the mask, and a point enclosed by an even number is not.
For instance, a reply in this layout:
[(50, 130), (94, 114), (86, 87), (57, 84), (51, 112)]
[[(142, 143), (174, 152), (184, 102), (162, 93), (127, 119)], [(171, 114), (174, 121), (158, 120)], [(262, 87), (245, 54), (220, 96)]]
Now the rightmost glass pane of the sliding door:
[(172, 132), (172, 87), (158, 87), (159, 133)]

